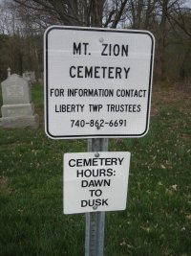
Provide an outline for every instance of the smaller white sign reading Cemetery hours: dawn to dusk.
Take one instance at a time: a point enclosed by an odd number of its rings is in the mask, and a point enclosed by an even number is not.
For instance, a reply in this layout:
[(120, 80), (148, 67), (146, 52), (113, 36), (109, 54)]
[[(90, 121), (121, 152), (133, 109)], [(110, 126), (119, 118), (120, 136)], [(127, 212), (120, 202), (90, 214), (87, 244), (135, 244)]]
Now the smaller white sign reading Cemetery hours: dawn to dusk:
[(64, 154), (64, 213), (126, 208), (130, 152)]

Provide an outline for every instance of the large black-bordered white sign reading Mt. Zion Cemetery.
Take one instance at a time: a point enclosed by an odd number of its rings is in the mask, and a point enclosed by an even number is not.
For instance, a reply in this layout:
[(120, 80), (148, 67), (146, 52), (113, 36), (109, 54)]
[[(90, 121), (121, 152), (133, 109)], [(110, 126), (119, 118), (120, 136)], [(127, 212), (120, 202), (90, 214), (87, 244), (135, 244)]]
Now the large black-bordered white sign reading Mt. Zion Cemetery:
[(152, 34), (54, 26), (46, 31), (44, 42), (48, 136), (146, 134), (155, 45)]

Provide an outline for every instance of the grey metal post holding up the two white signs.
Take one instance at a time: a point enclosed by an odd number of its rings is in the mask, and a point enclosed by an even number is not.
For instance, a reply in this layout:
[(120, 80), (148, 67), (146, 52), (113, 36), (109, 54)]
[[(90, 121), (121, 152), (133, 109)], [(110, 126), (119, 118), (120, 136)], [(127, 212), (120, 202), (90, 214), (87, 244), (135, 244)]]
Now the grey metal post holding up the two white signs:
[[(88, 151), (108, 151), (108, 139), (88, 139)], [(103, 256), (105, 212), (86, 213), (85, 256)]]

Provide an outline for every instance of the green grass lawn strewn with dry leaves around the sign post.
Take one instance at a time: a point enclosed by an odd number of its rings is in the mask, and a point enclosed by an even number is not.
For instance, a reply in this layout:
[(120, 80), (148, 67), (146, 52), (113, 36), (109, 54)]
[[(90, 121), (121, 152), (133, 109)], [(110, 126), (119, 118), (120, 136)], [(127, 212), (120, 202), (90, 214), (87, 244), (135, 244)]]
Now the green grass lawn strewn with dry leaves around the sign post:
[[(110, 139), (131, 168), (127, 209), (106, 214), (105, 256), (191, 255), (190, 95), (154, 84), (148, 134)], [(0, 256), (81, 256), (85, 218), (62, 214), (62, 158), (87, 143), (49, 139), (39, 84), (32, 101), (38, 129), (0, 128)]]

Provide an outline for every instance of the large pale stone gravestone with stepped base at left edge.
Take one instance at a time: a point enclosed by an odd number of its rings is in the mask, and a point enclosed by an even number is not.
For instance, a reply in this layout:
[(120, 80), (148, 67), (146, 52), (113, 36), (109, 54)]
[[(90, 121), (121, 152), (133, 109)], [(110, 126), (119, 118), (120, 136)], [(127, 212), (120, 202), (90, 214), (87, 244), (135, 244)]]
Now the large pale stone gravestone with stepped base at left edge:
[(25, 128), (38, 127), (38, 116), (34, 114), (31, 87), (29, 81), (12, 74), (8, 70), (8, 79), (2, 81), (3, 105), (0, 127)]

